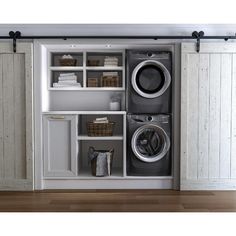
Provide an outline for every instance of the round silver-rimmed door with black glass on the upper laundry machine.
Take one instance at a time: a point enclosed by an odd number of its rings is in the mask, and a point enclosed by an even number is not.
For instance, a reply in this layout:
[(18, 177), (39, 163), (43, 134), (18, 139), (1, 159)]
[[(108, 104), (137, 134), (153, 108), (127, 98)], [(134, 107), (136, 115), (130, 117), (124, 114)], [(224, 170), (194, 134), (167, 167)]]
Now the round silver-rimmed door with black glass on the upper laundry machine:
[(171, 76), (160, 62), (147, 60), (139, 63), (131, 78), (133, 89), (142, 97), (156, 98), (169, 87)]

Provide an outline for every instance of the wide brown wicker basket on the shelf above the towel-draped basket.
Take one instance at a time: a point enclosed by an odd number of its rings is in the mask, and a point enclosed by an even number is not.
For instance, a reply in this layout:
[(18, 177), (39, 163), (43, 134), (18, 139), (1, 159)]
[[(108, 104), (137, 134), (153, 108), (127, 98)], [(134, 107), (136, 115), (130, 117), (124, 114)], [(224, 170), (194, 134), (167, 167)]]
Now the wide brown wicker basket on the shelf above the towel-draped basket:
[(112, 136), (115, 122), (93, 123), (87, 122), (88, 136)]

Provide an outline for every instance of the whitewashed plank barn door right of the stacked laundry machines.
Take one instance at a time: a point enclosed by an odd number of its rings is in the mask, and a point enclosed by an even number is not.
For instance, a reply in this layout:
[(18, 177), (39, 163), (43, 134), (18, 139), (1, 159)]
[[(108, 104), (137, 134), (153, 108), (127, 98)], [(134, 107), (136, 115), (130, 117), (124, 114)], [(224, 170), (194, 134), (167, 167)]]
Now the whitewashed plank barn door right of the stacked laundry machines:
[(236, 43), (183, 43), (181, 67), (181, 190), (236, 189)]

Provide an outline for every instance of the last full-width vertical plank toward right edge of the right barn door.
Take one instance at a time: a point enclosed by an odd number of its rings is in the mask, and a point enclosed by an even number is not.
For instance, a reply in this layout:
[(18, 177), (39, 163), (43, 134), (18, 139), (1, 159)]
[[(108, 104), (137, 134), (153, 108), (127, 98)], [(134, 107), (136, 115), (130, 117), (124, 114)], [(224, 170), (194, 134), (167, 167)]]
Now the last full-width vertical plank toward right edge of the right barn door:
[(230, 178), (232, 55), (221, 57), (220, 177)]

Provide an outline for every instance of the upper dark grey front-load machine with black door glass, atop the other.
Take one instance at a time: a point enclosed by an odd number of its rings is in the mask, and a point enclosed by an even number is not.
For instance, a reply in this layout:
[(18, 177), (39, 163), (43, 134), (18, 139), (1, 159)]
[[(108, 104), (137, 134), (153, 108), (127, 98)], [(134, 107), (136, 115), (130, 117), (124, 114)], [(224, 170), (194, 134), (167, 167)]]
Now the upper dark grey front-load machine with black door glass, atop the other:
[(171, 51), (128, 50), (128, 113), (171, 113), (171, 80)]

